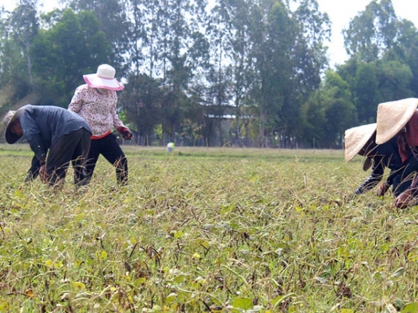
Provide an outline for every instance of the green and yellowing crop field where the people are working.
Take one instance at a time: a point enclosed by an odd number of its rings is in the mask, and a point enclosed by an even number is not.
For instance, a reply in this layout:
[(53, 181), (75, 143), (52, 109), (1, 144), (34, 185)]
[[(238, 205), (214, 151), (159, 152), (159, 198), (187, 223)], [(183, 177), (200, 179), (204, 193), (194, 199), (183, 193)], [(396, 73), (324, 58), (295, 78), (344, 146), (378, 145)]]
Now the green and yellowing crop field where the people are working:
[(418, 312), (418, 209), (341, 150), (123, 146), (117, 188), (23, 185), (0, 145), (0, 312)]

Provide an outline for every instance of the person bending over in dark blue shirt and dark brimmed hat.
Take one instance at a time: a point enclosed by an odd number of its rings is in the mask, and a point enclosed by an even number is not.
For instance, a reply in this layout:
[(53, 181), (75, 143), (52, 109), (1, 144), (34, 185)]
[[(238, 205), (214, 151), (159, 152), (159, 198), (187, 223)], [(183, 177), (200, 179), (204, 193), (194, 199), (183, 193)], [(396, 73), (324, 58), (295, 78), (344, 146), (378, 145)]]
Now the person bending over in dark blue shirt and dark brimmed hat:
[(75, 184), (87, 184), (84, 166), (91, 129), (79, 115), (58, 106), (27, 104), (17, 111), (9, 111), (3, 124), (7, 143), (16, 143), (22, 136), (26, 138), (40, 164), (42, 182), (62, 186), (71, 161)]

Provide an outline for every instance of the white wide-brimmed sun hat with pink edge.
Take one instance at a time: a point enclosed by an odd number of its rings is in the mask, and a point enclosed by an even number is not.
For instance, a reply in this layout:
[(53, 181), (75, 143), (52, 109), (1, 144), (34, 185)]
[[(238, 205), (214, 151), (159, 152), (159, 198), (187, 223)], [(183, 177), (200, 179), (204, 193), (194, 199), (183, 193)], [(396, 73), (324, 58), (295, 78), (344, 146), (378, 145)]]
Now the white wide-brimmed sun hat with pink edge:
[(108, 64), (99, 65), (95, 74), (83, 75), (88, 87), (109, 90), (123, 90), (123, 85), (115, 79), (116, 70)]

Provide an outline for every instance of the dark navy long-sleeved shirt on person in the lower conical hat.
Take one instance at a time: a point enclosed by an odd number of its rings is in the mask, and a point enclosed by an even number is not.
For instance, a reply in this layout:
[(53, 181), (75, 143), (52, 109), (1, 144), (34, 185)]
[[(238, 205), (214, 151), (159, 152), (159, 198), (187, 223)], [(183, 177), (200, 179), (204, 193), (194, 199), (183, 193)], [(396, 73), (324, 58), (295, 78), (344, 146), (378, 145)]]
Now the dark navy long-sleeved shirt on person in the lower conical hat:
[(355, 191), (357, 195), (369, 191), (371, 188), (376, 186), (382, 179), (385, 168), (389, 168), (391, 170), (385, 184), (387, 184), (387, 186), (392, 186), (394, 177), (396, 177), (396, 175), (401, 175), (401, 168), (408, 164), (411, 158), (413, 158), (412, 151), (408, 149), (408, 160), (404, 163), (402, 162), (398, 151), (398, 136), (395, 136), (386, 143), (377, 145), (372, 153), (373, 166), (371, 168), (371, 175), (361, 186), (359, 186), (359, 188), (357, 188)]

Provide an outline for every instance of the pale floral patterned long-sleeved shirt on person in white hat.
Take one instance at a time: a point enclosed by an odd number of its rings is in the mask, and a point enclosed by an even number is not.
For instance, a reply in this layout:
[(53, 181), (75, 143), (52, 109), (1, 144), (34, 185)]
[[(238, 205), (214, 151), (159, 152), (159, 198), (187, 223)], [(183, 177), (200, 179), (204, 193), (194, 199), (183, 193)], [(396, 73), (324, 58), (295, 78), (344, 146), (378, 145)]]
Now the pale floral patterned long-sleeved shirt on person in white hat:
[(91, 88), (87, 84), (77, 87), (68, 110), (80, 115), (88, 125), (94, 137), (103, 137), (111, 129), (125, 127), (116, 113), (118, 96), (116, 91)]

